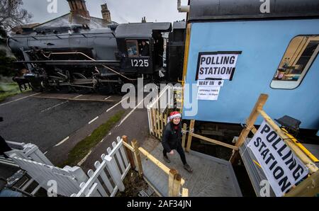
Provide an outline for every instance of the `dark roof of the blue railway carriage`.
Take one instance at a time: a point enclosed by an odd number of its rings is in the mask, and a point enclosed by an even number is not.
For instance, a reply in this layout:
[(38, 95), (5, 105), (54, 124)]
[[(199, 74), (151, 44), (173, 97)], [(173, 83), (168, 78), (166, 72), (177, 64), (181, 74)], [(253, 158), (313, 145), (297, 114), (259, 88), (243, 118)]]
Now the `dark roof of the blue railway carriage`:
[(318, 0), (269, 1), (269, 13), (262, 13), (263, 2), (256, 0), (192, 0), (189, 4), (189, 21), (319, 17)]

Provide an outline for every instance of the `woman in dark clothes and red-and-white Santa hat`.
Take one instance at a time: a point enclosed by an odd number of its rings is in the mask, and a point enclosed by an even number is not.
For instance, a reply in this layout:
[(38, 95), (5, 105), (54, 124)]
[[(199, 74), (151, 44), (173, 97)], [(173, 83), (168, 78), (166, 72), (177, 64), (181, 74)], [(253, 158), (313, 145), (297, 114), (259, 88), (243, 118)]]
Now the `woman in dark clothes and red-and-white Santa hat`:
[(191, 173), (193, 172), (193, 169), (191, 169), (191, 166), (187, 164), (184, 149), (181, 147), (181, 113), (177, 111), (170, 113), (169, 120), (169, 123), (164, 127), (162, 135), (164, 161), (170, 163), (167, 153), (173, 155), (173, 150), (176, 149), (176, 151), (179, 153), (179, 156), (181, 156), (184, 169)]

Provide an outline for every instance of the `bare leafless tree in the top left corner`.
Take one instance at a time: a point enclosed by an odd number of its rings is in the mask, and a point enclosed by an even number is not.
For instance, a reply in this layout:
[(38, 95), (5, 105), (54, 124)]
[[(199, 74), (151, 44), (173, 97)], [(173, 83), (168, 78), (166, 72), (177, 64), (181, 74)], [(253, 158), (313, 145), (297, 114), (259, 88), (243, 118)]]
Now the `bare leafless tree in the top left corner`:
[(22, 0), (0, 0), (0, 28), (9, 30), (30, 21), (32, 15), (22, 5)]

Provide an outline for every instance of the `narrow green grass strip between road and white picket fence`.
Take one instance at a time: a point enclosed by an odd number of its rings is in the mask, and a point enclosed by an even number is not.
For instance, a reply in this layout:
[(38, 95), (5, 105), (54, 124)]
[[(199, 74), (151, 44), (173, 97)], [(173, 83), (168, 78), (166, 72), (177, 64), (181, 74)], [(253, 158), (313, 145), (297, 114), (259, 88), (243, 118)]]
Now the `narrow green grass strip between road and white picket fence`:
[(86, 156), (86, 154), (88, 154), (89, 151), (96, 146), (96, 144), (101, 142), (101, 139), (103, 139), (103, 137), (108, 134), (111, 128), (116, 125), (116, 122), (121, 120), (124, 113), (125, 110), (118, 111), (103, 125), (100, 125), (98, 128), (96, 128), (96, 130), (94, 130), (90, 136), (77, 143), (77, 145), (75, 145), (74, 148), (69, 152), (67, 160), (58, 166), (60, 168), (63, 168), (64, 166), (76, 166), (79, 161), (81, 161), (84, 156)]

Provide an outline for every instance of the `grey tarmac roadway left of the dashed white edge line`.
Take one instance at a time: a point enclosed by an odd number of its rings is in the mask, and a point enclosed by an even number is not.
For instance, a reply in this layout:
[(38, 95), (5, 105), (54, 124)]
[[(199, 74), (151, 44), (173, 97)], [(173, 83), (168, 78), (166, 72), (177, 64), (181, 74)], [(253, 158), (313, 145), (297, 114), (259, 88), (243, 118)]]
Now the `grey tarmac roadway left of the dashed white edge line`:
[(36, 144), (42, 152), (116, 103), (33, 98), (33, 94), (23, 93), (0, 103), (0, 116), (4, 118), (0, 135), (8, 141)]

